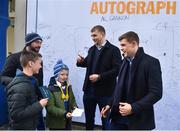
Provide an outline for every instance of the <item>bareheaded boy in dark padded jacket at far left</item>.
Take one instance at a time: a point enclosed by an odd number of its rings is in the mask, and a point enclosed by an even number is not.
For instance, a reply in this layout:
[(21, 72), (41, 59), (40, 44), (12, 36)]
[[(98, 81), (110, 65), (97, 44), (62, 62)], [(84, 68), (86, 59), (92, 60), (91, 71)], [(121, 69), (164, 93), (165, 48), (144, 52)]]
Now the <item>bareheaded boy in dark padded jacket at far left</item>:
[(33, 74), (41, 68), (41, 55), (32, 51), (23, 51), (20, 63), (23, 68), (7, 86), (10, 129), (35, 130), (39, 113), (47, 104), (47, 99), (38, 101), (36, 89), (38, 83)]

